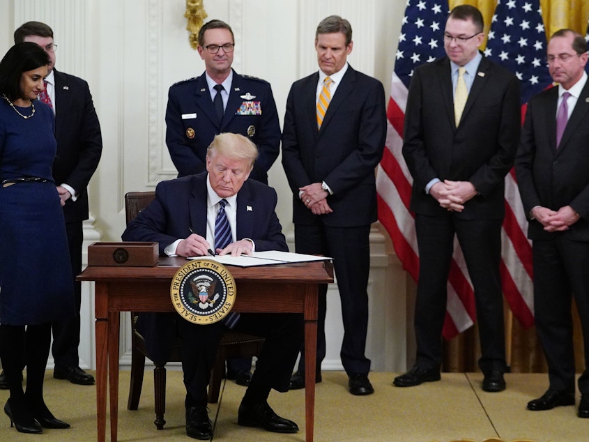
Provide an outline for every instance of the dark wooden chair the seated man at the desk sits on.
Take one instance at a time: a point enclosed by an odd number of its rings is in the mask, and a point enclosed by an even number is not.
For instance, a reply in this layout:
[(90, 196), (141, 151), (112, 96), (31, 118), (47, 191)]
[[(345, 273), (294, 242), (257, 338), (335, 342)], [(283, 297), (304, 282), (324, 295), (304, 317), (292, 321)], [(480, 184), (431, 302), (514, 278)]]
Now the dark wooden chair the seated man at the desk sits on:
[[(127, 224), (135, 219), (137, 214), (148, 206), (155, 198), (155, 192), (129, 192), (125, 195), (125, 214)], [(128, 410), (137, 410), (143, 376), (145, 370), (145, 358), (148, 358), (144, 337), (137, 331), (137, 313), (131, 312), (131, 379), (129, 386)], [(206, 326), (204, 326), (206, 327)], [(225, 374), (225, 360), (244, 356), (258, 356), (263, 344), (263, 337), (246, 335), (227, 331), (221, 338), (215, 366), (211, 371), (211, 379), (208, 383), (208, 402), (215, 404), (219, 400), (221, 382)], [(176, 340), (172, 346), (169, 360), (180, 362), (180, 340)], [(155, 365), (153, 369), (153, 388), (155, 393), (155, 421), (158, 429), (163, 429), (166, 423), (164, 414), (166, 411), (166, 368), (165, 365)]]

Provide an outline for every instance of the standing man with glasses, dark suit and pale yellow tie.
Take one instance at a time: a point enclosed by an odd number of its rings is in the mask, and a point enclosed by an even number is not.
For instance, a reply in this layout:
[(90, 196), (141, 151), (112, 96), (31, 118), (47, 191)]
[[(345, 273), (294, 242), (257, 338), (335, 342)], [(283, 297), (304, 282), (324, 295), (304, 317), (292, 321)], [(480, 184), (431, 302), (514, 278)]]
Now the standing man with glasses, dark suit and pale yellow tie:
[(520, 133), (519, 81), (482, 56), (483, 19), (457, 6), (444, 31), (447, 56), (413, 73), (403, 156), (413, 177), (420, 272), (415, 301), (417, 358), (398, 387), (438, 381), (441, 335), (454, 235), (473, 283), (482, 389), (505, 389), (505, 332), (500, 280), (504, 178)]

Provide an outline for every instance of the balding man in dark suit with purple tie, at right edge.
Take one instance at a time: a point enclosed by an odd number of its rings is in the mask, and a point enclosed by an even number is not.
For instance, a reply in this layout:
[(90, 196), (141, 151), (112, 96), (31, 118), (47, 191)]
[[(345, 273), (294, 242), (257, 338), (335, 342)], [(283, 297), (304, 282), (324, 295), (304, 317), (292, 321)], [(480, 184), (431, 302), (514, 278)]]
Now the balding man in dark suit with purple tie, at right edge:
[(515, 162), (533, 241), (534, 316), (549, 388), (528, 410), (575, 403), (571, 294), (581, 319), (585, 371), (579, 417), (589, 418), (589, 82), (587, 43), (561, 29), (551, 37), (550, 75), (560, 83), (528, 102)]

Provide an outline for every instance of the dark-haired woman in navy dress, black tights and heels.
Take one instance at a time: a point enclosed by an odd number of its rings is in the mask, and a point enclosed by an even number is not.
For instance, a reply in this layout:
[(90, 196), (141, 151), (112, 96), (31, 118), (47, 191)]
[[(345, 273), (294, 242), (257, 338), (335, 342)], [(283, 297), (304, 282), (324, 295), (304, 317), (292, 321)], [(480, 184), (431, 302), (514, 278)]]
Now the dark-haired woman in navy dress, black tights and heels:
[[(52, 110), (37, 100), (49, 57), (35, 43), (0, 61), (0, 359), (19, 432), (68, 428), (43, 399), (51, 321), (75, 314), (66, 227), (52, 179)], [(26, 365), (26, 390), (22, 366)]]

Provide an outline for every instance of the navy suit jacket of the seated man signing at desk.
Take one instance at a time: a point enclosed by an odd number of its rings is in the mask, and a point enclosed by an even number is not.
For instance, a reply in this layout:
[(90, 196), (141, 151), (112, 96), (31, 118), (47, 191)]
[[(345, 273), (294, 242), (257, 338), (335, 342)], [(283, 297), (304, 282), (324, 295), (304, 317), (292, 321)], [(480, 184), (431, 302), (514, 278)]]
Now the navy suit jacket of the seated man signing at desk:
[[(158, 242), (160, 254), (178, 239), (194, 233), (206, 238), (207, 173), (162, 181), (155, 199), (123, 233), (123, 241)], [(256, 250), (288, 251), (282, 226), (275, 213), (276, 191), (265, 184), (246, 180), (237, 194), (236, 237), (250, 238)]]

